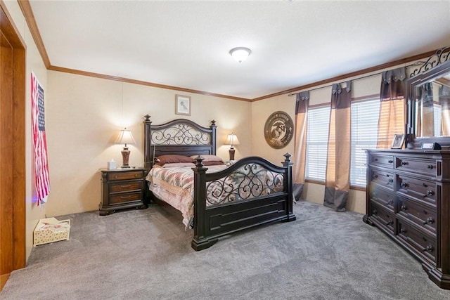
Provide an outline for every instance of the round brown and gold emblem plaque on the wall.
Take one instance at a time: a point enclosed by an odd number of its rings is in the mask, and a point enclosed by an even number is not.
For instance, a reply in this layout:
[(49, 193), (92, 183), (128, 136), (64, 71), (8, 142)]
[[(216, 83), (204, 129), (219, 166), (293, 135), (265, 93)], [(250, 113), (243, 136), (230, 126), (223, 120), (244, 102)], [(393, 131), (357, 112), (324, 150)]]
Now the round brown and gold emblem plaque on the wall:
[(293, 136), (294, 122), (287, 113), (274, 112), (267, 118), (264, 125), (264, 138), (271, 148), (285, 148)]

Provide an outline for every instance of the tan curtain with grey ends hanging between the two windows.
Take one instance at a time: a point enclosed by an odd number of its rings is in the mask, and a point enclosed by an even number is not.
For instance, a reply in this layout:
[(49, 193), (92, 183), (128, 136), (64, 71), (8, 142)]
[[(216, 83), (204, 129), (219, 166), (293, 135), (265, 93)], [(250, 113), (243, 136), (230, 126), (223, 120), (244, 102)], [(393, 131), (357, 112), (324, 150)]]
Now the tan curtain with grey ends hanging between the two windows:
[(352, 81), (345, 89), (333, 84), (323, 205), (345, 211), (350, 189), (350, 105)]

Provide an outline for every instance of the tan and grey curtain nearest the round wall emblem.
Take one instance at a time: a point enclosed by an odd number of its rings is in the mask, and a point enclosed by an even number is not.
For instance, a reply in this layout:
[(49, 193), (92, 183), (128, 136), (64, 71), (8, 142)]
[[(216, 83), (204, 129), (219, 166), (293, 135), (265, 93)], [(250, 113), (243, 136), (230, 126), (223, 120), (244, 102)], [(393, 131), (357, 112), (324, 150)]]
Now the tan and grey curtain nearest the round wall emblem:
[(295, 102), (295, 152), (294, 152), (294, 184), (295, 200), (300, 200), (304, 187), (304, 166), (306, 162), (307, 117), (309, 91), (297, 93)]

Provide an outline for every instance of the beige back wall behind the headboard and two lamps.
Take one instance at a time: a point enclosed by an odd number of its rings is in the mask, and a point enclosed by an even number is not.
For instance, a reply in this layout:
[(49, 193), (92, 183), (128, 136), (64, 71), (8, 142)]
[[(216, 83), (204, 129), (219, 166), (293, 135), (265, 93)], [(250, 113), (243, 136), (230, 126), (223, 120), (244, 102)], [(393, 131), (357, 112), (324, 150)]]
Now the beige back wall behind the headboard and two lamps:
[[(146, 114), (152, 116), (153, 124), (185, 117), (209, 126), (215, 119), (220, 157), (229, 159), (229, 146), (223, 143), (231, 131), (240, 141), (236, 158), (252, 153), (250, 102), (55, 71), (48, 72), (48, 84), (46, 131), (51, 176), (48, 216), (98, 209), (101, 199), (98, 169), (105, 168), (110, 159), (122, 164), (123, 146), (113, 142), (125, 126), (136, 140), (136, 145), (129, 145), (129, 164), (143, 165)], [(175, 115), (177, 93), (191, 96), (191, 116)]]

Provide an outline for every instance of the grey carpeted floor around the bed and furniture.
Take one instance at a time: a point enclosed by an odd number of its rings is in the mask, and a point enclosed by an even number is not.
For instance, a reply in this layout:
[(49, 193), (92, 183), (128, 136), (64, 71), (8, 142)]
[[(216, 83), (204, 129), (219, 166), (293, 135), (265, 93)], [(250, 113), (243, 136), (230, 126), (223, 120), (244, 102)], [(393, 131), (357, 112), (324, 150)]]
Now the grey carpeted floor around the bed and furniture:
[(450, 299), (361, 214), (294, 213), (201, 252), (171, 207), (61, 216), (70, 240), (34, 247), (0, 299)]

